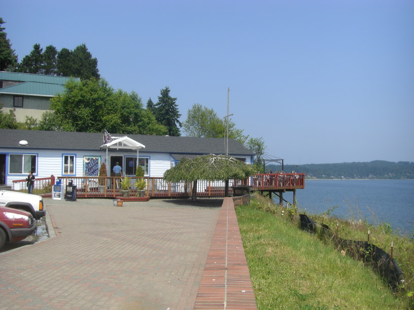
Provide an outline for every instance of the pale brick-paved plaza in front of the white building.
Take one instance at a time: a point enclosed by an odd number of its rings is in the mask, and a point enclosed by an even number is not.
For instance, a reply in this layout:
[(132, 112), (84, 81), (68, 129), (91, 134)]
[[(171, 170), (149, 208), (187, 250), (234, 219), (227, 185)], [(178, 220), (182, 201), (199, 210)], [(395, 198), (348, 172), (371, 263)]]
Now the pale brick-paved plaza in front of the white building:
[(223, 199), (45, 203), (56, 237), (0, 253), (1, 309), (194, 308)]

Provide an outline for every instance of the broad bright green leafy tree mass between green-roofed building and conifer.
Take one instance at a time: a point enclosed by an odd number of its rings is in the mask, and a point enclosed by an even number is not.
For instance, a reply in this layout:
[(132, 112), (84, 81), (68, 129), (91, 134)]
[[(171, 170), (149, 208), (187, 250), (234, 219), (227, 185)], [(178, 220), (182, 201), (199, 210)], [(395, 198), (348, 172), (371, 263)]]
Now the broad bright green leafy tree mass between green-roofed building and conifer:
[(65, 91), (51, 99), (51, 111), (40, 121), (42, 130), (164, 135), (154, 115), (143, 108), (141, 98), (114, 89), (104, 79), (68, 81)]

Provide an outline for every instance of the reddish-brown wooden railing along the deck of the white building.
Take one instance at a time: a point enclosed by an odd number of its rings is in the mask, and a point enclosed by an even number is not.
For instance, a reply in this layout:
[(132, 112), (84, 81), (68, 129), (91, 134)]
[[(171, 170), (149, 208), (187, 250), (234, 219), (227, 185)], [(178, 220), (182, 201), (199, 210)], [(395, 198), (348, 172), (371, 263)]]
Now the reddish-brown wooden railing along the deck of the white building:
[[(132, 186), (130, 196), (136, 195), (135, 181), (137, 177), (131, 177)], [(192, 182), (167, 182), (159, 177), (144, 177), (146, 181), (145, 196), (151, 198), (188, 198), (192, 192)], [(116, 198), (122, 196), (121, 189), (117, 188), (115, 177), (54, 177), (36, 179), (33, 193), (48, 195), (52, 186), (60, 181), (62, 191), (66, 186), (76, 186), (77, 198)], [(284, 192), (302, 189), (305, 185), (305, 174), (281, 173), (281, 174), (257, 174), (246, 180), (230, 180), (229, 195), (233, 194), (232, 186), (250, 186), (251, 191)], [(13, 181), (14, 190), (27, 190), (25, 180)], [(197, 182), (197, 197), (219, 198), (224, 197), (224, 181)]]

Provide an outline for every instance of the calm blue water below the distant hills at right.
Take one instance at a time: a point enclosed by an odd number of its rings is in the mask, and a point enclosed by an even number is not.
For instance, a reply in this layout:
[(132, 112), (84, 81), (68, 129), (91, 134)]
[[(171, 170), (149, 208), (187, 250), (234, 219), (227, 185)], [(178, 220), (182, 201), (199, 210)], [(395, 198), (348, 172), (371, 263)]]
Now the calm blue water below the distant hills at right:
[[(283, 198), (292, 202), (293, 195)], [(275, 199), (279, 202), (279, 198)], [(307, 213), (331, 213), (340, 218), (389, 223), (393, 229), (414, 231), (414, 180), (306, 180), (296, 191), (299, 208)]]

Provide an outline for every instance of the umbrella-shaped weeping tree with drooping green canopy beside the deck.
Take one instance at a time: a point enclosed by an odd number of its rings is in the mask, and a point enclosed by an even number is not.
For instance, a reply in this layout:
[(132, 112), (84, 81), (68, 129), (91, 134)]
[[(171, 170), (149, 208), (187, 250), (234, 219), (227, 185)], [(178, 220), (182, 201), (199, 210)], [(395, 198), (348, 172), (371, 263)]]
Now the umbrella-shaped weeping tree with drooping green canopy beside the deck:
[(176, 167), (164, 173), (164, 180), (170, 182), (192, 181), (191, 200), (197, 199), (197, 180), (224, 181), (225, 196), (228, 197), (230, 179), (244, 180), (256, 171), (251, 165), (225, 155), (203, 155), (196, 158), (183, 158)]

